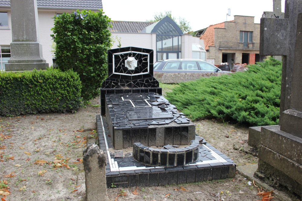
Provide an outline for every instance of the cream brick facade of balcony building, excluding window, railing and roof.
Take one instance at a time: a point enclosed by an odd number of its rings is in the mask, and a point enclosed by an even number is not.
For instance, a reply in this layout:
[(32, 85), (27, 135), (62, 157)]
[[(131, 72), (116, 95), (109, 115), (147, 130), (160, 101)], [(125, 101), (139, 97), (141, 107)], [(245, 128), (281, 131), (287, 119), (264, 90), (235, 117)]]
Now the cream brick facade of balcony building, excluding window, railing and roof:
[[(252, 31), (252, 42), (260, 42), (260, 24), (254, 23), (254, 17), (235, 15), (233, 21), (224, 22), (224, 28), (214, 28), (214, 46), (209, 46), (207, 60), (215, 59), (215, 64), (220, 64), (222, 55), (228, 54), (227, 62), (242, 63), (242, 54), (259, 54), (259, 45), (254, 49), (223, 49), (220, 48), (221, 41), (239, 42), (240, 31)], [(233, 60), (233, 61), (231, 61)]]

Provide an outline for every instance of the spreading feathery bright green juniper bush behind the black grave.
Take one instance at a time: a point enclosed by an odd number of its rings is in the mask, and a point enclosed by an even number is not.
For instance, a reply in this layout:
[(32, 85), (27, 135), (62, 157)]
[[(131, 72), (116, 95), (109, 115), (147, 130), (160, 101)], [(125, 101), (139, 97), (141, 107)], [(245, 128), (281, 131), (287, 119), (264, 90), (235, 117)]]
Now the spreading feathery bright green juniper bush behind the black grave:
[(179, 83), (166, 98), (192, 120), (220, 119), (249, 126), (279, 123), (281, 62), (270, 58), (246, 72)]

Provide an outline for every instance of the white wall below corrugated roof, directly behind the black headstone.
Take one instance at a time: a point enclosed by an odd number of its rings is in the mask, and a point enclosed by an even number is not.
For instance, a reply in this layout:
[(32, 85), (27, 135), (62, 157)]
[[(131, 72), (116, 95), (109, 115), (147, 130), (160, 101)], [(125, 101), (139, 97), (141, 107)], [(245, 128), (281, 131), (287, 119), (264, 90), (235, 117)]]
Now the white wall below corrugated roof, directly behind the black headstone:
[(155, 33), (111, 33), (114, 40), (112, 49), (118, 48), (120, 39), (121, 47), (139, 47), (153, 49), (153, 61), (156, 61), (156, 34)]

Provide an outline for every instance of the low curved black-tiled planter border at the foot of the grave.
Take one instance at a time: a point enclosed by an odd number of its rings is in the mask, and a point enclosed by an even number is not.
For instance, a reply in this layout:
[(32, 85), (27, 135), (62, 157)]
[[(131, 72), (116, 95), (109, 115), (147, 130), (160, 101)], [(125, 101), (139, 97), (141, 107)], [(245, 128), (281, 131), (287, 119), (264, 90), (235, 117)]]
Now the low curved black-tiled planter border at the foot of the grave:
[(134, 143), (132, 156), (146, 165), (175, 167), (194, 163), (198, 159), (198, 147), (198, 140), (191, 140), (190, 146), (175, 149), (154, 149)]

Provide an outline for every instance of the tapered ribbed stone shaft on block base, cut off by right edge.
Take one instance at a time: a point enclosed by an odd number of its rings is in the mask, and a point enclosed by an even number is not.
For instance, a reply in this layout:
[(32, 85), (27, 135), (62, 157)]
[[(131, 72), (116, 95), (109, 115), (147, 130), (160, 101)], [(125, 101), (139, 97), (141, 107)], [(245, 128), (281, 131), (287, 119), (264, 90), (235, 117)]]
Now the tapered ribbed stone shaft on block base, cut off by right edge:
[(302, 13), (298, 14), (290, 109), (283, 111), (280, 130), (302, 138)]

